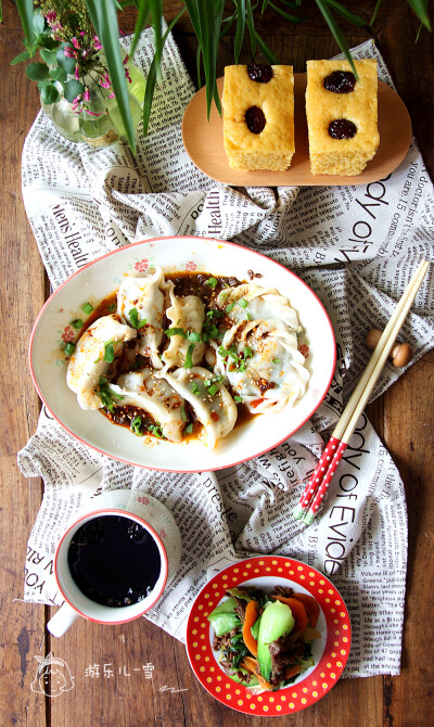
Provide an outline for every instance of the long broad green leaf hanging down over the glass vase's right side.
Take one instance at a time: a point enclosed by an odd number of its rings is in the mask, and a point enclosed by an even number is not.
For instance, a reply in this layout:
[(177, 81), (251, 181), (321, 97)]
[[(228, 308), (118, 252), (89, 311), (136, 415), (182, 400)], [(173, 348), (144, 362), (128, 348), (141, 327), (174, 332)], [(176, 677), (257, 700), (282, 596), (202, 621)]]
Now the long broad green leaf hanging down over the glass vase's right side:
[(105, 53), (112, 88), (128, 143), (132, 152), (136, 153), (135, 129), (129, 107), (125, 68), (120, 55), (119, 26), (115, 3), (113, 0), (86, 0), (86, 5)]

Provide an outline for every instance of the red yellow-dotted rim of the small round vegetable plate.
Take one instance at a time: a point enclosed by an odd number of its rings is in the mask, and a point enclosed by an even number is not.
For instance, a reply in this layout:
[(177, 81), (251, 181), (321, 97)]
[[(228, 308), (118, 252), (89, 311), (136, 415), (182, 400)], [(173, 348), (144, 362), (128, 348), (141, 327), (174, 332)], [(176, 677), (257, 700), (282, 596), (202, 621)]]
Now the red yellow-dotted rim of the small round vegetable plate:
[[(284, 578), (295, 590), (299, 588), (314, 596), (322, 612), (320, 621), (326, 622), (327, 640), (322, 655), (305, 678), (302, 675), (284, 689), (255, 694), (230, 679), (220, 668), (212, 648), (213, 630), (207, 615), (218, 605), (228, 588), (270, 576)], [(218, 573), (199, 594), (187, 625), (187, 653), (201, 685), (221, 704), (261, 717), (292, 714), (324, 697), (345, 667), (350, 640), (348, 611), (333, 584), (310, 565), (280, 556), (250, 558)]]

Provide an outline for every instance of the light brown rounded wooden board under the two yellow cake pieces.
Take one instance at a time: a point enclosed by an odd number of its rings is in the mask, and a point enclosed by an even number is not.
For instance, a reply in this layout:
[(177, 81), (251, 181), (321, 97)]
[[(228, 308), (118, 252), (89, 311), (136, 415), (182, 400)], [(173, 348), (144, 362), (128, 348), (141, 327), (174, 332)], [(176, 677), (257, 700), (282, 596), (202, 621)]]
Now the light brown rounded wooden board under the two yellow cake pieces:
[[(224, 79), (217, 79), (221, 98)], [(207, 177), (232, 187), (289, 187), (367, 184), (384, 179), (404, 160), (411, 140), (411, 122), (398, 94), (379, 81), (380, 146), (363, 171), (356, 177), (312, 175), (305, 114), (306, 74), (294, 74), (295, 154), (285, 171), (232, 169), (224, 148), (224, 124), (215, 103), (206, 118), (205, 88), (195, 93), (182, 119), (182, 140), (193, 164)]]

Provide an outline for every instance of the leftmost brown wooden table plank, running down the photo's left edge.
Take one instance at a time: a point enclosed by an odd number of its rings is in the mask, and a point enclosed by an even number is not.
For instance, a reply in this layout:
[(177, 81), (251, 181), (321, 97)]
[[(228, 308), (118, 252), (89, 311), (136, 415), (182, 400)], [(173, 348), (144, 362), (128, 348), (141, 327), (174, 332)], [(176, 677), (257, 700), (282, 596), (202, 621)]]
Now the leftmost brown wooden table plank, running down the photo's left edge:
[[(46, 697), (30, 689), (36, 655), (43, 655), (44, 609), (22, 602), (26, 541), (36, 516), (41, 485), (26, 481), (16, 451), (34, 433), (38, 400), (27, 368), (28, 335), (43, 303), (44, 275), (21, 197), (21, 151), (38, 106), (23, 67), (10, 61), (23, 50), (16, 10), (3, 3), (1, 47), (2, 201), (0, 204), (0, 443), (1, 637), (0, 714), (3, 725), (46, 725)], [(8, 42), (5, 43), (5, 39)], [(31, 567), (31, 566), (30, 566)]]

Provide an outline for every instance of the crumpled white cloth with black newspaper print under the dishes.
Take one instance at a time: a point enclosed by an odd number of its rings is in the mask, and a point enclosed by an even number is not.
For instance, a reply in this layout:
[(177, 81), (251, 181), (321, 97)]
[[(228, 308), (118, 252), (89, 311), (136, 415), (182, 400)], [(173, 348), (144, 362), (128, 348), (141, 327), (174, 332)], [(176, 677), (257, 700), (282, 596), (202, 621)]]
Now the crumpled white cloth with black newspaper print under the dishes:
[[(127, 40), (123, 40), (127, 43)], [(354, 49), (375, 58), (374, 44)], [(135, 62), (146, 74), (146, 33)], [(42, 409), (37, 433), (18, 454), (44, 496), (28, 540), (25, 599), (61, 603), (52, 575), (55, 544), (102, 492), (130, 487), (158, 498), (182, 536), (179, 571), (153, 623), (184, 640), (191, 604), (215, 572), (253, 553), (279, 553), (319, 569), (341, 590), (353, 643), (344, 676), (398, 674), (407, 563), (407, 514), (399, 474), (363, 414), (319, 516), (306, 527), (295, 508), (324, 441), (369, 352), (418, 262), (433, 259), (433, 186), (414, 141), (398, 169), (361, 187), (248, 188), (248, 196), (207, 179), (189, 161), (181, 117), (194, 92), (169, 37), (149, 135), (133, 157), (125, 143), (93, 151), (61, 139), (39, 114), (23, 152), (26, 212), (53, 288), (95, 257), (135, 240), (194, 234), (232, 240), (294, 270), (324, 304), (337, 362), (323, 404), (293, 437), (244, 464), (202, 474), (145, 471), (89, 450)], [(403, 330), (418, 360), (434, 344), (432, 272)], [(373, 397), (401, 373), (386, 365)]]

